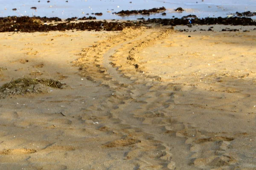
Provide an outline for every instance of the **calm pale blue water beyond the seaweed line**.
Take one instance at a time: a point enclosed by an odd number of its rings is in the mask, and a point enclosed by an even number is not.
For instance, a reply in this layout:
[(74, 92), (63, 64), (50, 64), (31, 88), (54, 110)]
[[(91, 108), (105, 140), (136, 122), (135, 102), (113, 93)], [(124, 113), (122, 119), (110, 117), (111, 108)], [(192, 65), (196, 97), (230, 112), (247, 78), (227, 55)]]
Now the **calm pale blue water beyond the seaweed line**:
[[(130, 3), (131, 2), (131, 3)], [(102, 12), (97, 19), (136, 20), (142, 15), (120, 17), (112, 14), (121, 10), (139, 10), (155, 7), (166, 7), (167, 15), (153, 14), (144, 18), (172, 18), (195, 14), (198, 17), (227, 17), (236, 11), (256, 11), (256, 0), (0, 0), (0, 17), (6, 16), (41, 16), (41, 17), (84, 17), (89, 13)], [(37, 7), (36, 10), (31, 7)], [(183, 13), (174, 9), (182, 7)], [(12, 11), (17, 8), (17, 11)], [(111, 11), (111, 12), (108, 12)], [(253, 17), (254, 19), (256, 17)]]

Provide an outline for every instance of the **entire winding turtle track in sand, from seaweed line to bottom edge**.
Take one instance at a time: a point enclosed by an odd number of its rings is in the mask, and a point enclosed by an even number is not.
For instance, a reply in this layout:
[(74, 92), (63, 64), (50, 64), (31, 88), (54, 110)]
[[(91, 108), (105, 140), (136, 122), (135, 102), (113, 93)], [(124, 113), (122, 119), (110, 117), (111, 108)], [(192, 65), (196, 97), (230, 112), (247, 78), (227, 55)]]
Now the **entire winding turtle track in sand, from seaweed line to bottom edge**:
[(196, 88), (161, 82), (160, 77), (147, 74), (140, 62), (143, 48), (172, 33), (170, 28), (125, 29), (83, 49), (73, 62), (81, 77), (110, 88), (111, 95), (102, 103), (104, 115), (97, 115), (99, 120), (108, 119), (99, 130), (120, 134), (121, 139), (102, 147), (126, 150), (123, 159), (131, 161), (134, 169), (232, 169), (239, 162), (229, 152), (235, 138), (204, 131), (172, 115), (179, 109), (181, 113), (191, 107), (205, 109), (180, 104), (186, 91)]

